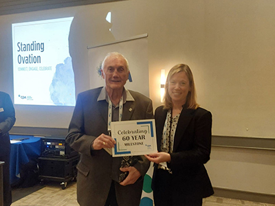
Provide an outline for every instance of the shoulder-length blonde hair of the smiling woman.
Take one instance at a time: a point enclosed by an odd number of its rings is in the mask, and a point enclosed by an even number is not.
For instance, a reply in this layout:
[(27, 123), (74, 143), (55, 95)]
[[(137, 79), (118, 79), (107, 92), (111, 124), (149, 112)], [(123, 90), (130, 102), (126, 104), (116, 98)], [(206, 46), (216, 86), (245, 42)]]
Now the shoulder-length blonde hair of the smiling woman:
[(170, 82), (170, 78), (175, 74), (175, 73), (179, 73), (181, 71), (184, 71), (186, 73), (186, 76), (189, 80), (189, 86), (190, 86), (190, 91), (188, 92), (188, 95), (186, 97), (186, 108), (192, 108), (192, 109), (196, 109), (199, 107), (199, 104), (197, 104), (197, 93), (196, 93), (196, 89), (195, 89), (195, 82), (194, 82), (194, 78), (192, 75), (192, 71), (190, 69), (190, 67), (188, 67), (188, 65), (184, 65), (184, 64), (179, 64), (179, 65), (175, 65), (174, 67), (172, 67), (172, 69), (170, 69), (168, 76), (166, 78), (166, 83), (165, 83), (165, 93), (164, 93), (164, 109), (172, 109), (173, 108), (173, 103), (172, 103), (172, 99), (168, 93), (168, 87), (169, 87), (169, 82)]

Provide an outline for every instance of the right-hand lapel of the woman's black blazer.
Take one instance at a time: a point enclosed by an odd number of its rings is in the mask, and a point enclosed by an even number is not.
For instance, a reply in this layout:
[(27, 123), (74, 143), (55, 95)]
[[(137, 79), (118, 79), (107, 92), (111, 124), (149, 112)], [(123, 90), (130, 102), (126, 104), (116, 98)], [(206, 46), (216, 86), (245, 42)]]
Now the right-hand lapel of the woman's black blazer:
[(173, 151), (177, 150), (181, 138), (184, 138), (184, 132), (193, 117), (194, 110), (183, 109), (181, 115), (179, 116), (179, 122), (177, 122), (177, 129), (174, 138), (174, 148)]

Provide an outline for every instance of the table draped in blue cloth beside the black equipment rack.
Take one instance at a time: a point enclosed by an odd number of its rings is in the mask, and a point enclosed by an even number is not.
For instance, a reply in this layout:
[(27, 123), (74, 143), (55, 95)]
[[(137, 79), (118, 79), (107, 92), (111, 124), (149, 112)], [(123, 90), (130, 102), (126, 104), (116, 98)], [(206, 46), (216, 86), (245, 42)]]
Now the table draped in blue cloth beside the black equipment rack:
[(20, 179), (21, 166), (41, 156), (41, 138), (26, 135), (10, 135), (10, 184)]

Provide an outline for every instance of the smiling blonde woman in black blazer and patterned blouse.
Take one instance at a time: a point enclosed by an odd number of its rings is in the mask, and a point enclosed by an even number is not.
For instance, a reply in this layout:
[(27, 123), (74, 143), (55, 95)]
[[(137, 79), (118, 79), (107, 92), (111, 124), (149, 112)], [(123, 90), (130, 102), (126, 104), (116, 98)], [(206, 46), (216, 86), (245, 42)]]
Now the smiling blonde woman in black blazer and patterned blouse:
[(196, 102), (188, 65), (170, 69), (164, 106), (155, 110), (155, 124), (159, 152), (146, 155), (155, 163), (155, 206), (202, 205), (202, 198), (214, 194), (203, 165), (210, 159), (212, 115)]

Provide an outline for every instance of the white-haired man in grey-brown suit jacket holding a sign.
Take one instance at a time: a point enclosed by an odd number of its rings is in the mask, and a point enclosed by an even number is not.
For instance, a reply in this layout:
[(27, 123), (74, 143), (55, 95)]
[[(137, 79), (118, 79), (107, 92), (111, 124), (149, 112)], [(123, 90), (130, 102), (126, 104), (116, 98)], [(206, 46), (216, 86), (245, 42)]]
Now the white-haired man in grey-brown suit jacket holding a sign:
[[(81, 206), (138, 206), (143, 177), (150, 165), (144, 156), (111, 157), (111, 122), (153, 118), (152, 101), (124, 88), (129, 77), (122, 54), (107, 54), (102, 62), (105, 87), (78, 95), (66, 141), (81, 153), (77, 196)], [(122, 168), (126, 162), (129, 167)], [(126, 174), (124, 176), (124, 174)]]

